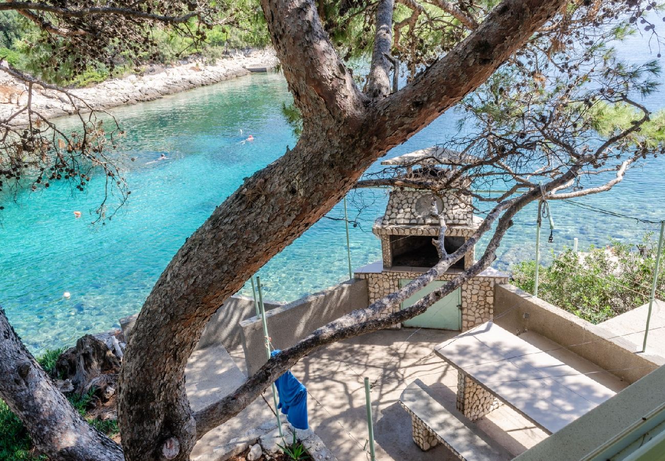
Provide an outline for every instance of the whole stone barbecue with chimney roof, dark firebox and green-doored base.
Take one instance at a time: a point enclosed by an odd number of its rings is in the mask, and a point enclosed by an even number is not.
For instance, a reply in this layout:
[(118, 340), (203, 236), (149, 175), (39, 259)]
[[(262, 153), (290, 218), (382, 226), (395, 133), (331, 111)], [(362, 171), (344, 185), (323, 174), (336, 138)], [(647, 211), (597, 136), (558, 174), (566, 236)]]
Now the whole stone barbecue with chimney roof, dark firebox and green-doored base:
[[(382, 165), (403, 166), (410, 172), (416, 164), (423, 167), (434, 164), (450, 165), (459, 161), (464, 161), (460, 153), (430, 147), (384, 161)], [(468, 183), (462, 183), (458, 188), (441, 193), (438, 197), (424, 190), (400, 188), (390, 191), (386, 212), (376, 219), (372, 228), (372, 232), (381, 240), (382, 260), (358, 269), (355, 274), (356, 278), (368, 280), (370, 302), (398, 290), (402, 284), (420, 276), (438, 262), (433, 240), (438, 238), (441, 227), (438, 216), (432, 213), (433, 205), (436, 204), (434, 211), (442, 213), (446, 221), (444, 246), (447, 252), (460, 248), (467, 238), (477, 231), (482, 219), (473, 215), (470, 195), (460, 193), (460, 190), (468, 187)], [(456, 262), (439, 280), (451, 280), (462, 270), (471, 267), (473, 258), (474, 249), (471, 247), (464, 258)], [(457, 302), (450, 299), (446, 306), (440, 306), (439, 309), (444, 310), (442, 315), (447, 320), (432, 316), (430, 311), (436, 314), (437, 304), (434, 304), (428, 312), (410, 320), (405, 326), (441, 328), (443, 324), (446, 329), (466, 331), (491, 320), (494, 284), (507, 281), (506, 274), (487, 269), (460, 288), (456, 294), (459, 298)], [(426, 292), (420, 293), (418, 297), (424, 294)], [(412, 302), (408, 305), (411, 304)], [(452, 309), (458, 309), (459, 312), (452, 312)], [(386, 315), (390, 313), (392, 312), (386, 312)], [(459, 316), (458, 323), (454, 321), (455, 316)]]

